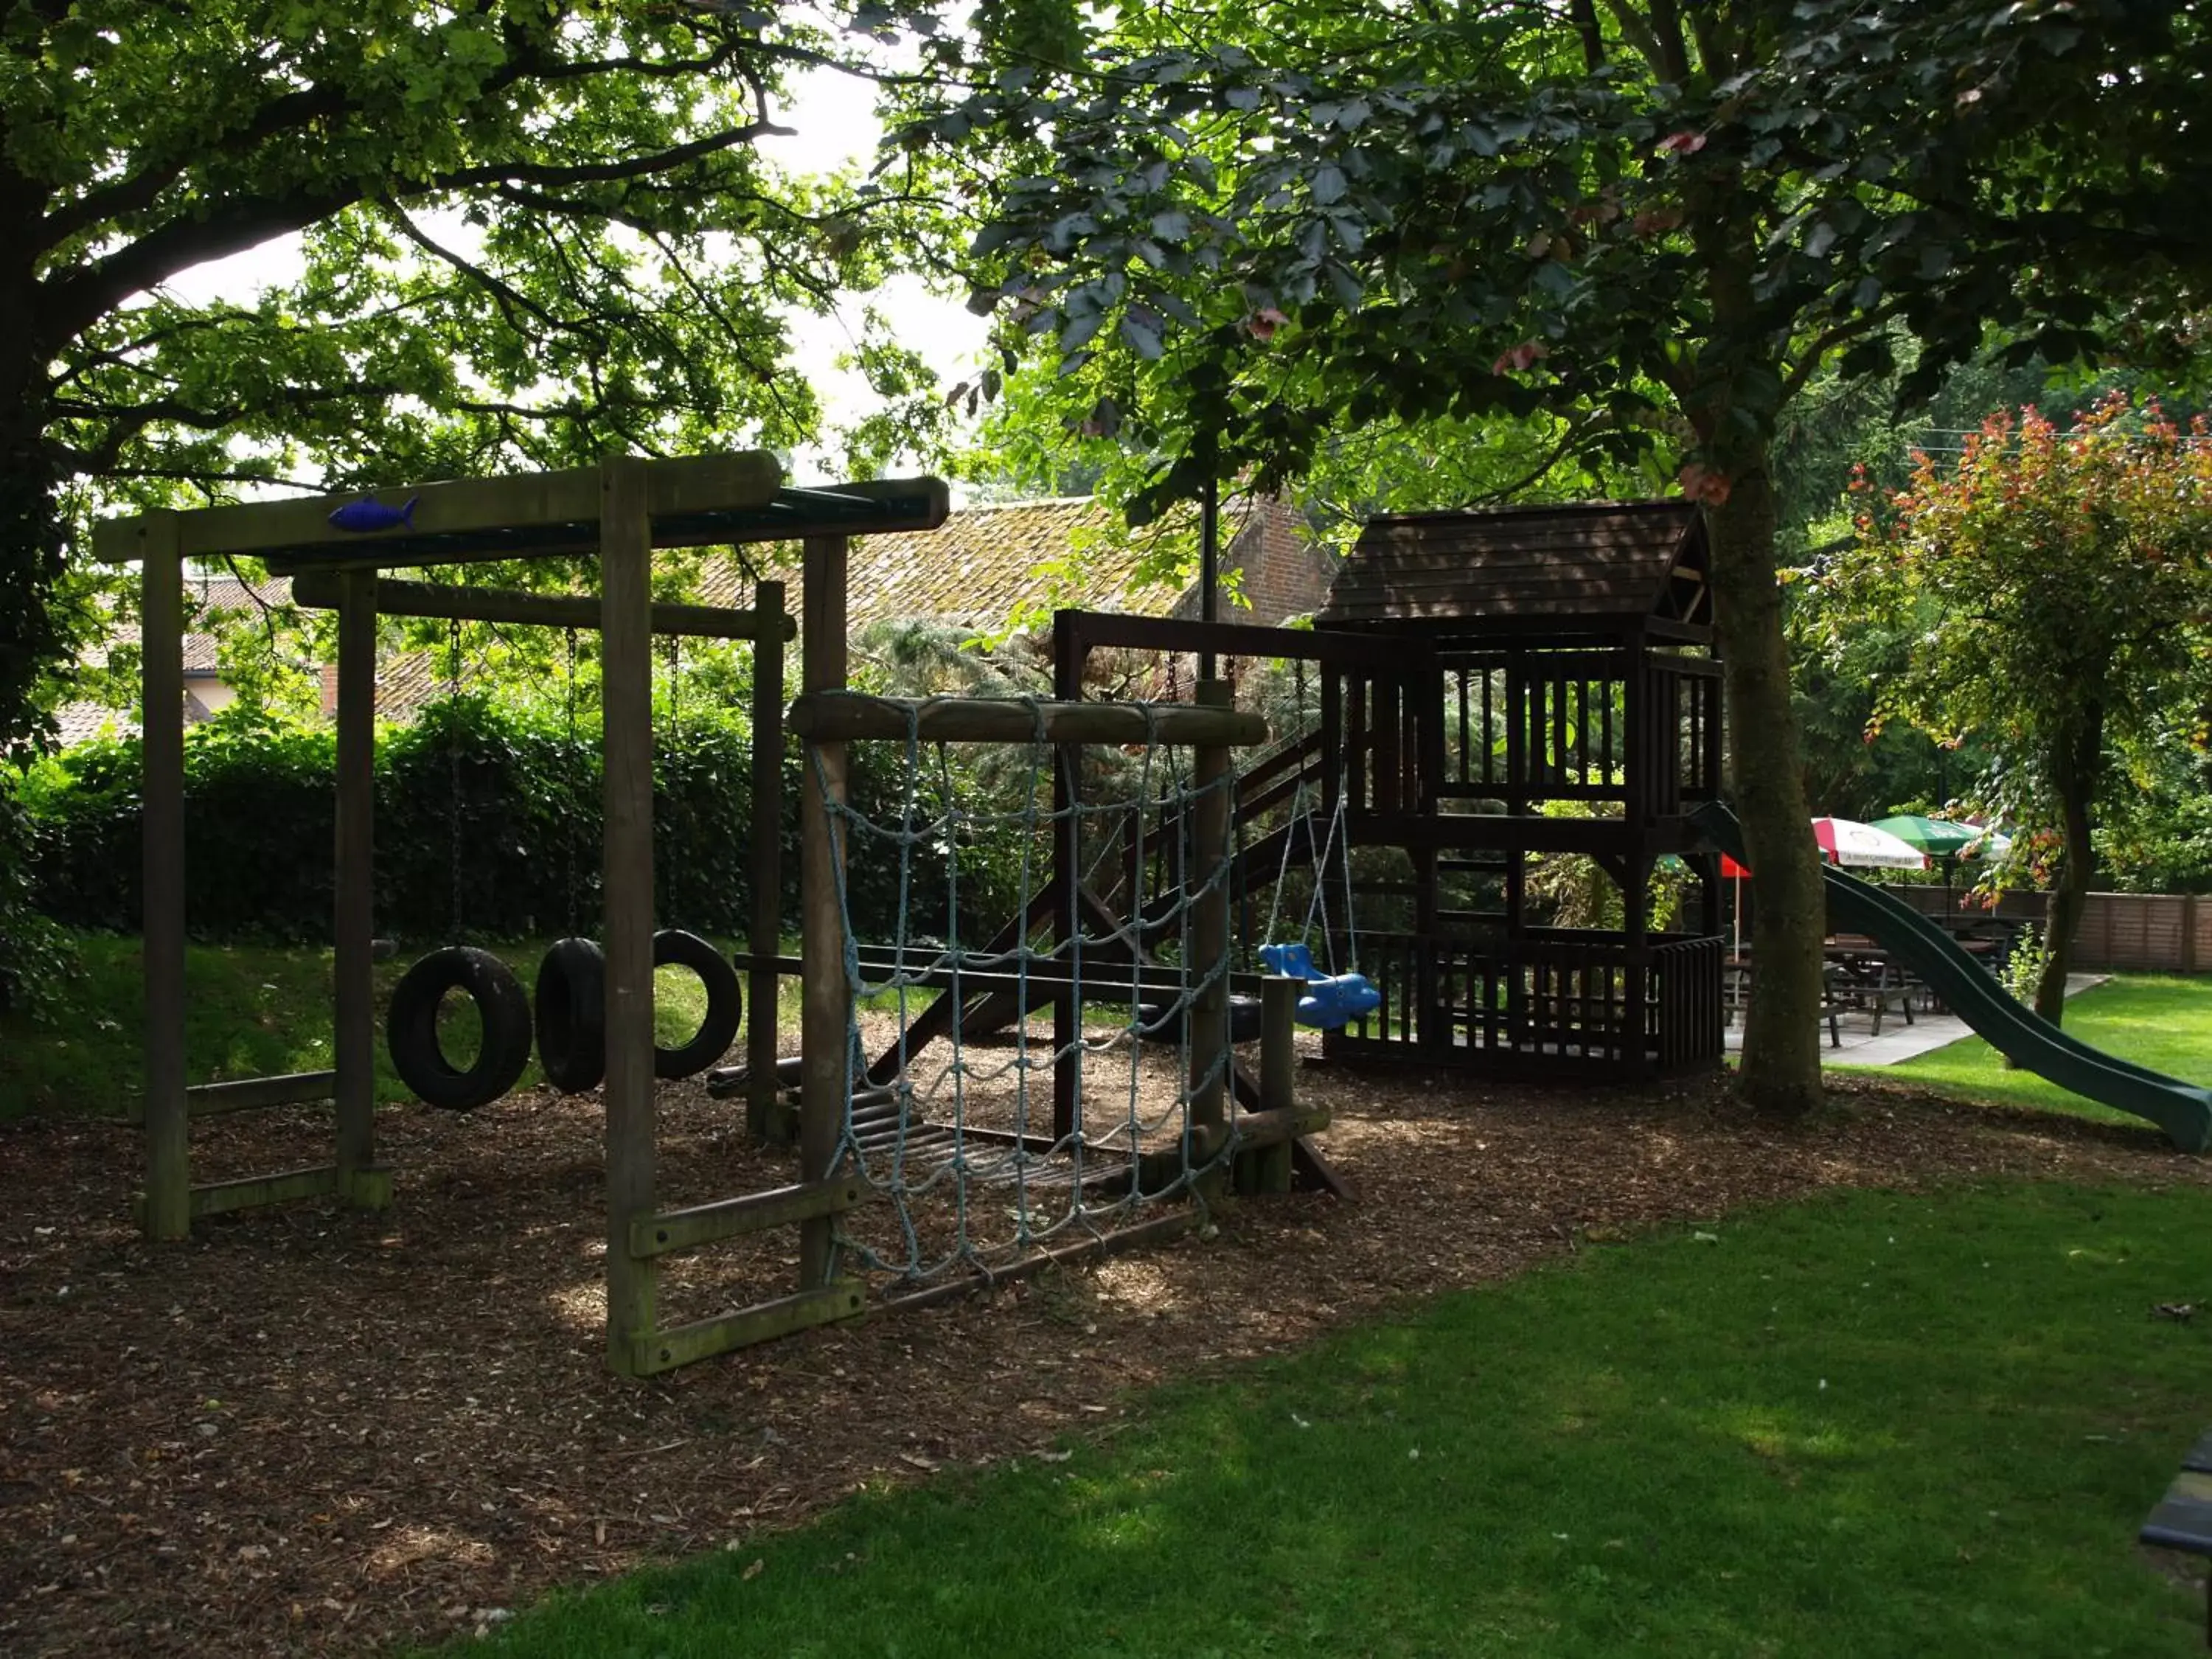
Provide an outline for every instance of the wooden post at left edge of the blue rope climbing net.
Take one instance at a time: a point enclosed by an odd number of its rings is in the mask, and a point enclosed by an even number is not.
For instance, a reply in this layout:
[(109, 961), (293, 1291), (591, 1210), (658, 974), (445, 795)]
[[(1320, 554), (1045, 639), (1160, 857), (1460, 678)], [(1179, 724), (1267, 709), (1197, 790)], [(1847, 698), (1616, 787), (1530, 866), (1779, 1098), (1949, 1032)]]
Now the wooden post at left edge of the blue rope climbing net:
[[(805, 542), (805, 604), (799, 684), (810, 690), (845, 686), (845, 562), (843, 535)], [(845, 743), (807, 743), (799, 785), (799, 907), (801, 907), (801, 1026), (799, 1053), (799, 1179), (825, 1181), (836, 1161), (845, 1124), (845, 1044), (849, 987), (845, 984), (845, 916), (838, 905), (838, 838), (830, 801), (845, 801)], [(799, 1225), (799, 1287), (823, 1290), (836, 1276), (836, 1219)]]

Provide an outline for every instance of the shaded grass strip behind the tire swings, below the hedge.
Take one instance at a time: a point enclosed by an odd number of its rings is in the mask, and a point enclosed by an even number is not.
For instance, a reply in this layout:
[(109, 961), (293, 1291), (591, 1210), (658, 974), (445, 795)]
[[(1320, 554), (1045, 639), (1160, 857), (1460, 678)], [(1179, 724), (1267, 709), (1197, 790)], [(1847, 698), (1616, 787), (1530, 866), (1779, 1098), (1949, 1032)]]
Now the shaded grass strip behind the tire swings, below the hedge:
[[(538, 978), (538, 958), (551, 940), (493, 945), (522, 989)], [(717, 940), (728, 947), (728, 940)], [(392, 1073), (383, 1046), (383, 1009), (392, 987), (427, 951), (403, 949), (376, 964), (376, 1097), (411, 1099)], [(69, 989), (69, 1011), (51, 1024), (0, 1015), (0, 1119), (27, 1110), (128, 1113), (142, 1088), (146, 993), (135, 938), (91, 933), (80, 940), (84, 978)], [(323, 1071), (330, 1053), (330, 951), (279, 945), (192, 945), (186, 980), (186, 1077), (195, 1084), (226, 1077), (263, 1077)], [(684, 969), (655, 975), (655, 1024), (664, 1042), (699, 1029), (706, 993)], [(783, 982), (781, 1024), (799, 1029), (799, 982)], [(476, 1009), (458, 993), (442, 1018), (447, 1057), (469, 1064), (476, 1055)], [(540, 1082), (538, 1062), (522, 1073), (522, 1088)]]

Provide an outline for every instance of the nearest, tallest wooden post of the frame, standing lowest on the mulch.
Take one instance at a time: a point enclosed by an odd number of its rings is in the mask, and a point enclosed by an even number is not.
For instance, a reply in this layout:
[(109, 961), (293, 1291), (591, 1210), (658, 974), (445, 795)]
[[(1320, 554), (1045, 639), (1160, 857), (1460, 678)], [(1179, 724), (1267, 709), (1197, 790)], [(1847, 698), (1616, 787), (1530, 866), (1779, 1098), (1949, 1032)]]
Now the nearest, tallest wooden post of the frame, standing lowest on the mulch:
[(655, 1263), (630, 1254), (653, 1214), (653, 524), (644, 462), (599, 465), (599, 639), (606, 774), (606, 1363), (637, 1376)]

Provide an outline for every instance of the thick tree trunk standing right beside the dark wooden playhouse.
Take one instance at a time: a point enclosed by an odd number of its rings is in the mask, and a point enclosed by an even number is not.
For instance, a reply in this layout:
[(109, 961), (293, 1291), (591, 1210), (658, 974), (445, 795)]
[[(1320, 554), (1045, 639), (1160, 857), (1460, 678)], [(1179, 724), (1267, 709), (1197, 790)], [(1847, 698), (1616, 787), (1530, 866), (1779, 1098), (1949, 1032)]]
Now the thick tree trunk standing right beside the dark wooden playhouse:
[(1765, 447), (1743, 456), (1728, 500), (1705, 509), (1712, 604), (1728, 686), (1728, 770), (1752, 867), (1752, 1006), (1743, 1095), (1759, 1110), (1820, 1102), (1820, 940), (1827, 898), (1798, 772), (1783, 595), (1774, 580), (1774, 487)]

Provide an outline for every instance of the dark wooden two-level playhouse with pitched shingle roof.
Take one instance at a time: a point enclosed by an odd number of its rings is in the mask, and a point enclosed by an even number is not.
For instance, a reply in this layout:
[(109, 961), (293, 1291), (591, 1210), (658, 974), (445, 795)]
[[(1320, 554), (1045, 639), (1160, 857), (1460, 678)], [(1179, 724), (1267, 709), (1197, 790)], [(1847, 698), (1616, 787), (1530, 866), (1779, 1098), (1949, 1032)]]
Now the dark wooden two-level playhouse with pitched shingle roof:
[[(1688, 818), (1721, 783), (1705, 568), (1683, 502), (1367, 526), (1316, 624), (1407, 644), (1402, 666), (1323, 664), (1327, 812), (1340, 790), (1383, 1006), (1329, 1053), (1608, 1079), (1719, 1064), (1719, 880)], [(1661, 863), (1690, 878), (1668, 931)], [(1619, 925), (1557, 925), (1562, 874), (1593, 867)]]

